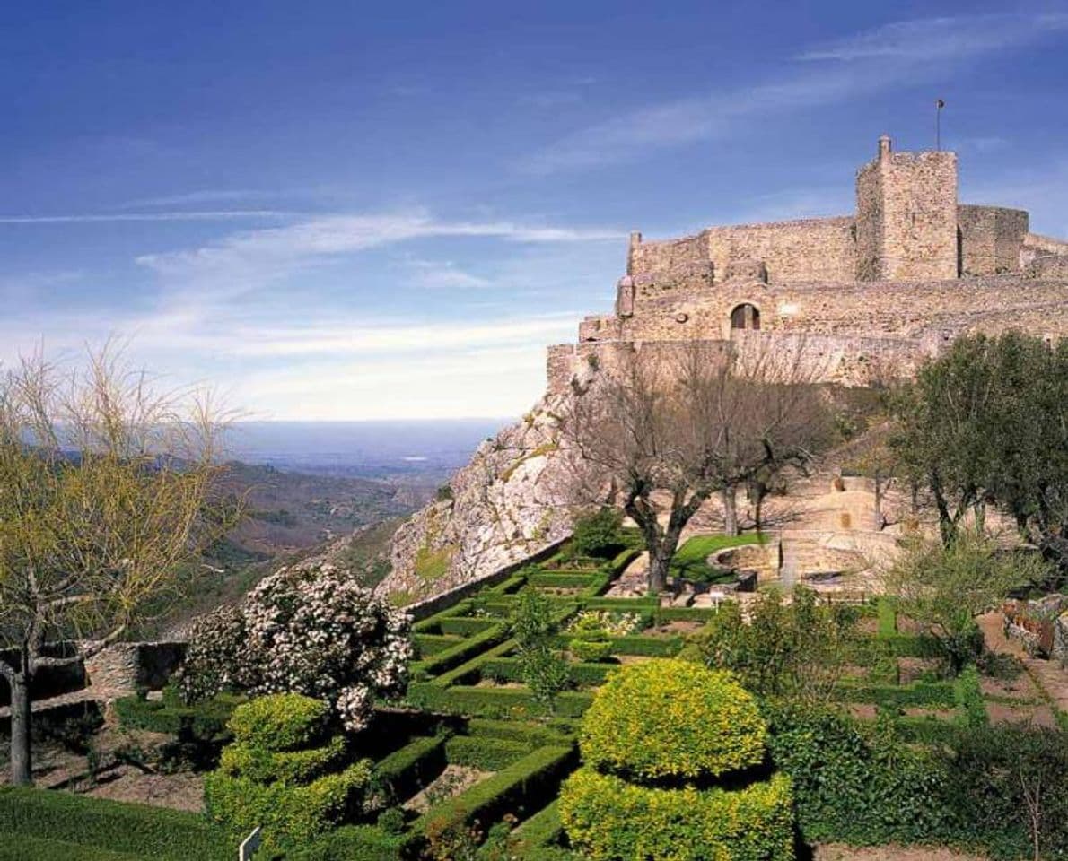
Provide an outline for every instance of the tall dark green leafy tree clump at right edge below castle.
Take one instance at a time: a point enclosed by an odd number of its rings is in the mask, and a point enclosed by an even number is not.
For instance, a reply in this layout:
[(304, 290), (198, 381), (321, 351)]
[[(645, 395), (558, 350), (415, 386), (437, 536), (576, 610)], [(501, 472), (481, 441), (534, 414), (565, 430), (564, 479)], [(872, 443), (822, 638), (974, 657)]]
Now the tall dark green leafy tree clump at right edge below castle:
[(925, 487), (944, 543), (986, 506), (1068, 569), (1068, 339), (1008, 332), (958, 338), (896, 399), (891, 445)]

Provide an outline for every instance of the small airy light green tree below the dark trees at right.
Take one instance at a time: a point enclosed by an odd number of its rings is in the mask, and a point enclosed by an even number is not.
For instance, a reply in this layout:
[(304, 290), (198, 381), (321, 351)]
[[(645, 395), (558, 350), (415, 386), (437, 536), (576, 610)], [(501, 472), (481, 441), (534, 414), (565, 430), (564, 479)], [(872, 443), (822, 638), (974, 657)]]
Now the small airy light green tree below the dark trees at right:
[(960, 530), (948, 546), (910, 542), (886, 574), (886, 590), (906, 616), (938, 638), (959, 672), (983, 651), (975, 617), (996, 607), (1020, 584), (1041, 580), (1046, 563), (1034, 553), (1006, 552), (975, 531)]

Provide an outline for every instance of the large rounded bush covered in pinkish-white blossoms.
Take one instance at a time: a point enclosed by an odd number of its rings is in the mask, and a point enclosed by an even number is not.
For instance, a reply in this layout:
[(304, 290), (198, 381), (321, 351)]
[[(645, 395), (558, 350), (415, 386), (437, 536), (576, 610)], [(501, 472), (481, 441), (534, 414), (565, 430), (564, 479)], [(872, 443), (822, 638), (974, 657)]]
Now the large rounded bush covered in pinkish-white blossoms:
[(303, 693), (331, 703), (346, 729), (366, 727), (376, 696), (403, 691), (410, 620), (333, 565), (283, 568), (237, 607), (201, 617), (180, 684), (187, 699), (223, 688)]

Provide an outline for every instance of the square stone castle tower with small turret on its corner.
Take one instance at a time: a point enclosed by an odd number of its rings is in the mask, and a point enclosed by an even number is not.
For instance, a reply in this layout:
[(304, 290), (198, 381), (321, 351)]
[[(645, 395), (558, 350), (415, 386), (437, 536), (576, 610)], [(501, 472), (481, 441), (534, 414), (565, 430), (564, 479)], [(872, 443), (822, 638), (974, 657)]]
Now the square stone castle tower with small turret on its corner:
[(957, 154), (879, 155), (857, 174), (857, 280), (934, 281), (959, 274)]

